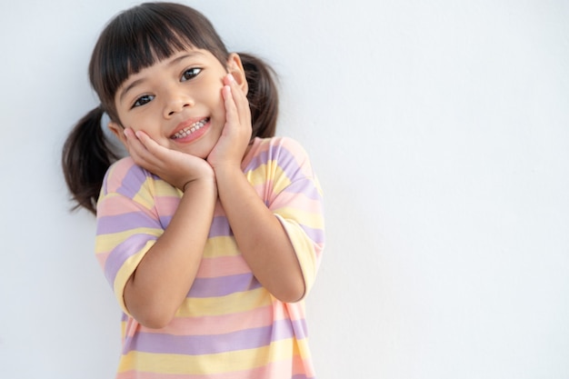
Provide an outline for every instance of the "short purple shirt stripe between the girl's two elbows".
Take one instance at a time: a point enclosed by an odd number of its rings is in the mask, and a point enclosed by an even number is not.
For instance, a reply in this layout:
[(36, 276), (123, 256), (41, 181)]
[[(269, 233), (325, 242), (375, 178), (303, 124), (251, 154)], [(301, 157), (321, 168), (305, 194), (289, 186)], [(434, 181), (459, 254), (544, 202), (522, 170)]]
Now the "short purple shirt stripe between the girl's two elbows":
[(196, 278), (187, 297), (218, 297), (259, 288), (261, 284), (251, 273)]

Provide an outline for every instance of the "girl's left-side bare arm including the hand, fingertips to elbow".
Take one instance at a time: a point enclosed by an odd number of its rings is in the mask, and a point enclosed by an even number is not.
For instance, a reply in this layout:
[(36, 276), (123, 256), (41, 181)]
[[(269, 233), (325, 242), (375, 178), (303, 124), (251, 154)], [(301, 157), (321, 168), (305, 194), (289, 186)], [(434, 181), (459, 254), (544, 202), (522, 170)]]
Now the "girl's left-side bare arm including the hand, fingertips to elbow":
[[(166, 176), (167, 180), (163, 179), (185, 190), (164, 234), (125, 285), (129, 313), (140, 324), (160, 328), (172, 320), (194, 283), (217, 199), (215, 176), (203, 159), (168, 151), (147, 135), (136, 138), (130, 132), (126, 136), (135, 162), (153, 165), (156, 175)], [(177, 167), (177, 173), (173, 167)]]

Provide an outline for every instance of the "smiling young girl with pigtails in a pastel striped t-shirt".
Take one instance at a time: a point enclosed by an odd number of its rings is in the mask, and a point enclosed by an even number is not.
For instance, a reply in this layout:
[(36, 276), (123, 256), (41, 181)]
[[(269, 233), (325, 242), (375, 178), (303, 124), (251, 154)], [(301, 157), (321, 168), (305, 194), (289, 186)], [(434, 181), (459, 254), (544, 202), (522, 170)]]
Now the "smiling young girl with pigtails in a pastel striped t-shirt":
[(101, 105), (63, 166), (124, 311), (116, 377), (314, 377), (303, 300), (322, 197), (301, 146), (274, 137), (270, 69), (229, 54), (194, 9), (157, 3), (106, 26), (89, 75)]

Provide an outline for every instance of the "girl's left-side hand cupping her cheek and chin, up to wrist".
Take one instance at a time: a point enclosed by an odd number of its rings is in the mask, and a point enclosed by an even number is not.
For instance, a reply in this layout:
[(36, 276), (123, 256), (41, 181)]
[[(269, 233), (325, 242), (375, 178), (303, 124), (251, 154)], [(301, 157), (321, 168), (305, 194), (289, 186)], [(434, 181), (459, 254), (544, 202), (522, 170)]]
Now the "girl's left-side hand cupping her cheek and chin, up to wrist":
[(185, 185), (200, 178), (215, 180), (214, 170), (204, 159), (159, 145), (145, 132), (125, 129), (128, 153), (149, 172), (171, 185), (185, 190)]

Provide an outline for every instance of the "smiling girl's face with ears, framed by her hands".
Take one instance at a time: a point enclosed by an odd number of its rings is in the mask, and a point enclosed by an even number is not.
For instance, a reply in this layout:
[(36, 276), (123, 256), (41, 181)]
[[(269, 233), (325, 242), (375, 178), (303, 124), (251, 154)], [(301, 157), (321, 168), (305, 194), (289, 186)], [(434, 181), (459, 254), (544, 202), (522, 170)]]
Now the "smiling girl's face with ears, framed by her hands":
[[(122, 126), (144, 131), (159, 145), (206, 158), (225, 125), (223, 78), (235, 77), (246, 93), (238, 55), (226, 67), (207, 50), (188, 48), (131, 75), (115, 95)], [(109, 124), (125, 144), (123, 127)]]

